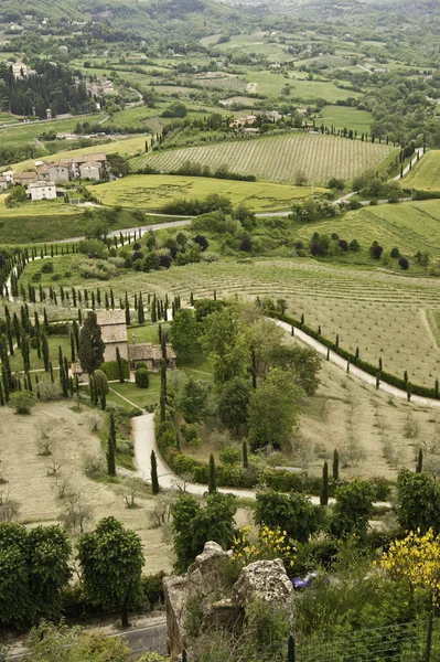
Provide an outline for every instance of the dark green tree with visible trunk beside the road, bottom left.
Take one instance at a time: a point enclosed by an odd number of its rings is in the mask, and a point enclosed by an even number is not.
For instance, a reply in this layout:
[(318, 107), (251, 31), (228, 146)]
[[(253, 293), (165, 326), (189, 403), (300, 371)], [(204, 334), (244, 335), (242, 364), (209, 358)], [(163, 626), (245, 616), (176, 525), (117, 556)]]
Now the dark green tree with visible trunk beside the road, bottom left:
[(128, 610), (142, 597), (144, 557), (138, 534), (105, 517), (79, 538), (78, 559), (88, 598), (104, 609), (120, 610), (122, 627), (128, 627)]

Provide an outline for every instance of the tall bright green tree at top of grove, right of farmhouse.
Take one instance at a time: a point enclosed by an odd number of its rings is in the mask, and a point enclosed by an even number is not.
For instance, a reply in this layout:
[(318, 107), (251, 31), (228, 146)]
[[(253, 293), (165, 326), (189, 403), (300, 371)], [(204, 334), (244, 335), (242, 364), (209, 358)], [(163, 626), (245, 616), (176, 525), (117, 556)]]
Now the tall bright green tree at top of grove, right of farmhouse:
[(237, 308), (227, 306), (204, 319), (202, 345), (214, 367), (214, 380), (223, 383), (245, 376), (250, 362), (249, 330)]

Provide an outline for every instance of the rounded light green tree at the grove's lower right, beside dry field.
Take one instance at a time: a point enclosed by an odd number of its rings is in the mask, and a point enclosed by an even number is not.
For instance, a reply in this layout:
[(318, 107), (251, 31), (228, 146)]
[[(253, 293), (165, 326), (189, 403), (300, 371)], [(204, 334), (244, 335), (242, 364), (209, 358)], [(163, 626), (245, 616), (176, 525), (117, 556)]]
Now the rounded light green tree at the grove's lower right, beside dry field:
[(250, 444), (253, 449), (272, 446), (281, 448), (298, 423), (302, 391), (291, 373), (272, 369), (266, 382), (254, 391), (249, 406)]

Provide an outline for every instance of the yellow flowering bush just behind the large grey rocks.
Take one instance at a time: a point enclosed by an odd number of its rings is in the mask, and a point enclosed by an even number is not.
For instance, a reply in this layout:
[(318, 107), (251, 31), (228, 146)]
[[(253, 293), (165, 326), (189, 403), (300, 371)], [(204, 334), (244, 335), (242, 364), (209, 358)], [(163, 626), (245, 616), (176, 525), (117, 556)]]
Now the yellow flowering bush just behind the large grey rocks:
[(250, 526), (242, 526), (233, 541), (234, 560), (245, 566), (254, 560), (281, 558), (286, 565), (293, 565), (296, 547), (279, 526), (269, 528), (262, 524), (257, 536), (250, 533)]

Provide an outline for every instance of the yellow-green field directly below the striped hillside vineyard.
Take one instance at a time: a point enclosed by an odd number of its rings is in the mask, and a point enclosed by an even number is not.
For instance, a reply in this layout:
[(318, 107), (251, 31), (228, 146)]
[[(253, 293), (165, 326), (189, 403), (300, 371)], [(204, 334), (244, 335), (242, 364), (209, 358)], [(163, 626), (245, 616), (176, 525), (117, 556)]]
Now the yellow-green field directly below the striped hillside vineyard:
[(206, 197), (210, 193), (226, 195), (234, 205), (246, 203), (255, 212), (279, 211), (290, 209), (293, 202), (311, 194), (309, 186), (167, 174), (130, 175), (88, 189), (105, 205), (148, 211), (160, 211), (172, 200)]

